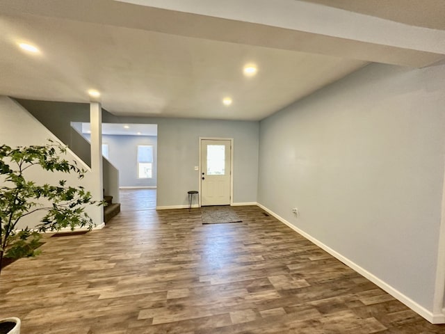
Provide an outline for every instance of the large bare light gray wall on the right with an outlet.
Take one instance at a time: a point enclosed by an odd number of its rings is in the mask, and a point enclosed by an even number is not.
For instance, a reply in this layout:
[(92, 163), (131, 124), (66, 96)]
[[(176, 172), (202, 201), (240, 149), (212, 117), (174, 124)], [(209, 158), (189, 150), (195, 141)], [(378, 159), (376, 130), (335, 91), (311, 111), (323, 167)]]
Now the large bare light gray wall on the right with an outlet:
[(444, 78), (445, 65), (371, 64), (260, 124), (258, 202), (428, 310)]

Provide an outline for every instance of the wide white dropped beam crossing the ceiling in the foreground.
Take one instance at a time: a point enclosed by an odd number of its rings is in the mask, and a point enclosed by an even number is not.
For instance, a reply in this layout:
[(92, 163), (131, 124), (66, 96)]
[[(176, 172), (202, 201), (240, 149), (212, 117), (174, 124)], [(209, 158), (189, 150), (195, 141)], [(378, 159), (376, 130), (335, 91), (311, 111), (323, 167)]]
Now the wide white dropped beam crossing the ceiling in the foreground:
[(295, 0), (6, 0), (0, 10), (411, 67), (445, 58), (445, 31)]

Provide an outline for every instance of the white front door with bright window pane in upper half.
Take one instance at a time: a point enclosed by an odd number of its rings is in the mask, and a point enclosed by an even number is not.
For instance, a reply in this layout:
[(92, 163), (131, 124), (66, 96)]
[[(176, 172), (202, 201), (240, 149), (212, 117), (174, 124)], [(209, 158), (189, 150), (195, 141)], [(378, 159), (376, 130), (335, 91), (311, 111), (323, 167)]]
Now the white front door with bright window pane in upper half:
[(232, 145), (230, 140), (201, 139), (201, 205), (229, 205)]

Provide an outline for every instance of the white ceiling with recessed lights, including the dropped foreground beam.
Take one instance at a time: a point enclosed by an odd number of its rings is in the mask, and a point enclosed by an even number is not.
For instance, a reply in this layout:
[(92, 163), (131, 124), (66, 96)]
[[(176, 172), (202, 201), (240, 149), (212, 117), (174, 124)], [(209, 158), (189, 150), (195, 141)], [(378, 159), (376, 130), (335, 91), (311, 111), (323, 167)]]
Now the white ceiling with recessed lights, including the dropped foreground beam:
[[(369, 61), (422, 67), (445, 57), (445, 31), (421, 28), (445, 1), (390, 10), (411, 24), (422, 9), (419, 26), (388, 21), (378, 10), (386, 1), (309, 2), (0, 0), (0, 95), (88, 102), (95, 88), (116, 116), (261, 120)], [(246, 63), (255, 77), (243, 76)]]

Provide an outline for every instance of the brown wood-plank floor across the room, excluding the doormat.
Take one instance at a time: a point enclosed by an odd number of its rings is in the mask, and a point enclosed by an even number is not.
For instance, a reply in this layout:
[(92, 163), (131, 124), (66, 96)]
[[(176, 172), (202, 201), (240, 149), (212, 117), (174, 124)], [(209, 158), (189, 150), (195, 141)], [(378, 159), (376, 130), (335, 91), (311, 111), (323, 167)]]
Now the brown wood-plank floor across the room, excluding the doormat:
[[(121, 202), (124, 202), (121, 200)], [(256, 206), (125, 210), (102, 230), (46, 237), (0, 278), (22, 333), (445, 333)]]

